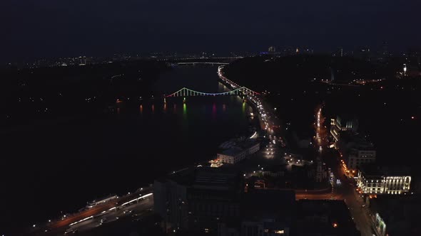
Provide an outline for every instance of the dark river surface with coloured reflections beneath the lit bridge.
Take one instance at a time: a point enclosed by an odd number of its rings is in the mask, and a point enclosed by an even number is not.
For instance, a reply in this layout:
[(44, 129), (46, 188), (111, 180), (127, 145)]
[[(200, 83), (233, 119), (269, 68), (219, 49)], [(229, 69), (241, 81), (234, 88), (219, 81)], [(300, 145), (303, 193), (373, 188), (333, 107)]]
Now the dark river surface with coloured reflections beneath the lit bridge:
[[(154, 91), (224, 91), (216, 71), (175, 68)], [(250, 111), (239, 97), (187, 97), (184, 104), (183, 98), (156, 98), (123, 105), (116, 114), (1, 130), (0, 235), (208, 160), (220, 143), (248, 132)]]

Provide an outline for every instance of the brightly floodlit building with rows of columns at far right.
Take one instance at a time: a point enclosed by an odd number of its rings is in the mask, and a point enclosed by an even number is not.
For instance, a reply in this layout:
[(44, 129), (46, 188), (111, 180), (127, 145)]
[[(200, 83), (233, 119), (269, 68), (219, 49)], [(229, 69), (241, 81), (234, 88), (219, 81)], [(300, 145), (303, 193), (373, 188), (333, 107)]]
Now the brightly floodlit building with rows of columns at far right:
[(410, 184), (410, 171), (402, 166), (376, 166), (375, 163), (369, 163), (360, 166), (358, 171), (357, 186), (365, 194), (408, 193)]

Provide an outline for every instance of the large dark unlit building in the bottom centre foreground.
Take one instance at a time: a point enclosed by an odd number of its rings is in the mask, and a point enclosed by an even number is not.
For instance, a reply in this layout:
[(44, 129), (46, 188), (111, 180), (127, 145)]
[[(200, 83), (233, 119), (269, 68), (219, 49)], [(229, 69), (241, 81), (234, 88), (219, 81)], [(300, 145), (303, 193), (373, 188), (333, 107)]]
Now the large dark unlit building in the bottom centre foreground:
[(215, 235), (219, 222), (240, 217), (243, 178), (227, 168), (188, 168), (156, 180), (153, 193), (166, 232)]

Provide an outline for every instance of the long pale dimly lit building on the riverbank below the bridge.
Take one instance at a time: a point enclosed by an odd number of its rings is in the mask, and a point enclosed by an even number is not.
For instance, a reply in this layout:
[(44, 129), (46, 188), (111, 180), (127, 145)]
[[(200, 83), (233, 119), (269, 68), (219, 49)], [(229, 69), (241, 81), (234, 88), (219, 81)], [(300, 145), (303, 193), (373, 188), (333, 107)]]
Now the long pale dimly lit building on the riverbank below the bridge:
[(247, 156), (255, 154), (260, 150), (260, 143), (251, 139), (238, 140), (230, 145), (225, 144), (225, 146), (227, 146), (228, 149), (218, 153), (218, 159), (223, 163), (231, 164), (242, 161)]

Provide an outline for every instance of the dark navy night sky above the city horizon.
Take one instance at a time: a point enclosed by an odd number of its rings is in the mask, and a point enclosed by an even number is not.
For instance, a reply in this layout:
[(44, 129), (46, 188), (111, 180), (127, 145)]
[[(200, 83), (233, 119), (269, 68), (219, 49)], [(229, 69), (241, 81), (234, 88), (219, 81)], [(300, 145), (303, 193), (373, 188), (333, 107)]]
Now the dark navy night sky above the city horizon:
[(1, 60), (420, 45), (419, 0), (2, 0)]

